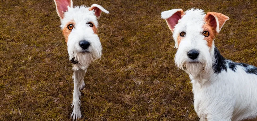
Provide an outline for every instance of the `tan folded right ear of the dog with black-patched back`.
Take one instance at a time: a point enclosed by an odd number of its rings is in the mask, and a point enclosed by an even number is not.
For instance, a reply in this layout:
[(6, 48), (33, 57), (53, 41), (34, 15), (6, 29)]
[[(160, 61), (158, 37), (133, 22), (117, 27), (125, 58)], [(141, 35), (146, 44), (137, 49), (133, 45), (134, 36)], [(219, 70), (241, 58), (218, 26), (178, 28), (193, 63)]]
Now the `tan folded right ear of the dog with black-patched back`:
[(221, 13), (207, 12), (205, 20), (216, 29), (217, 33), (219, 33), (225, 22), (229, 20), (229, 17)]

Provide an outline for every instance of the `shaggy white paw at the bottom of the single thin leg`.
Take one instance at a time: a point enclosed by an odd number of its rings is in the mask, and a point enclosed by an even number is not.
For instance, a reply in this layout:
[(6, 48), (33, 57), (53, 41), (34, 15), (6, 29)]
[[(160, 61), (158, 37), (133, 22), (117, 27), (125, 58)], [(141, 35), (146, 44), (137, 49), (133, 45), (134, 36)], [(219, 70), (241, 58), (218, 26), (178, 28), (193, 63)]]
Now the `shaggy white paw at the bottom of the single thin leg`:
[(72, 106), (73, 107), (73, 111), (71, 113), (71, 118), (73, 120), (77, 120), (78, 118), (81, 118), (81, 111), (80, 111), (80, 100), (73, 100), (72, 101)]

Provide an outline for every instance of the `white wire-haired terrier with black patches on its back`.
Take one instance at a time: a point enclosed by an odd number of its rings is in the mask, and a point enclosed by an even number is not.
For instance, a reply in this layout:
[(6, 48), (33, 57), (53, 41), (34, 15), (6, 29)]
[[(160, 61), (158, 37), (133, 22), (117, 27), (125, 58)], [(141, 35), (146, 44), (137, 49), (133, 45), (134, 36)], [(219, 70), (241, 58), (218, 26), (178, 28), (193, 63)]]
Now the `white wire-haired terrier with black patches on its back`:
[(175, 40), (175, 63), (193, 85), (200, 121), (239, 121), (257, 116), (257, 68), (225, 59), (214, 45), (229, 17), (173, 9), (161, 13)]

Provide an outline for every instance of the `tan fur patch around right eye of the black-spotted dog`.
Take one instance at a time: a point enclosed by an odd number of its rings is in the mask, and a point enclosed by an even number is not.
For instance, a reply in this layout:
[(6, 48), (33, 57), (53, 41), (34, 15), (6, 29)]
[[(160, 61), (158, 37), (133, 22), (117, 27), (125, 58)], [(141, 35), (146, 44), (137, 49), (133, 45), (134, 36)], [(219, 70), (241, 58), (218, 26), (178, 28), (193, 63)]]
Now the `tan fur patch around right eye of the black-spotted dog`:
[(209, 21), (208, 21), (208, 20), (205, 20), (205, 22), (206, 22), (206, 24), (203, 25), (203, 32), (204, 32), (204, 31), (209, 32), (209, 36), (208, 36), (208, 37), (204, 37), (204, 40), (207, 41), (207, 45), (209, 46), (209, 48), (211, 48), (212, 45), (213, 45), (213, 40), (214, 40), (215, 36), (216, 36), (218, 33), (217, 33), (216, 30), (215, 30), (216, 28), (214, 28), (213, 26), (211, 26), (211, 25), (209, 24)]

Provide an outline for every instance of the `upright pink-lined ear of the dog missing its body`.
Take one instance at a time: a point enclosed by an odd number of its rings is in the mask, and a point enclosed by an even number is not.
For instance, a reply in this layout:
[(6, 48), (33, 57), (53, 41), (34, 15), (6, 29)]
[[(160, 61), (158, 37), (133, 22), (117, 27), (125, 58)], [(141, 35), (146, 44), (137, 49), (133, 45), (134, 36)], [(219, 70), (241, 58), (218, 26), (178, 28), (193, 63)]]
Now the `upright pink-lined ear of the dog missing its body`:
[(57, 14), (61, 19), (64, 18), (64, 12), (68, 11), (68, 6), (72, 7), (72, 0), (54, 0)]

